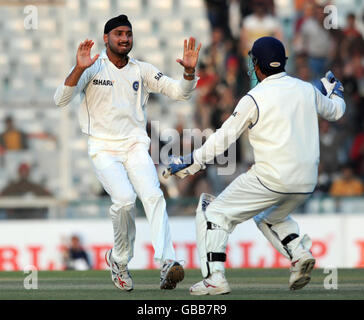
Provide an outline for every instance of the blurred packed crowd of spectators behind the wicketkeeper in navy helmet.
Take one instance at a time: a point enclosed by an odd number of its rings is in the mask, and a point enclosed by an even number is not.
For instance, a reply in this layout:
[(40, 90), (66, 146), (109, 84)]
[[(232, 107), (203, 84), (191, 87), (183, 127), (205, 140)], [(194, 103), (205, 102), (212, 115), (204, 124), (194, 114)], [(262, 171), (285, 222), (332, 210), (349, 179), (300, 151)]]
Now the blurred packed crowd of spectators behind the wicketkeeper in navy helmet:
[[(335, 123), (319, 119), (321, 162), (314, 195), (363, 195), (364, 39), (358, 25), (363, 25), (364, 13), (348, 13), (345, 26), (330, 28), (324, 13), (330, 2), (296, 0), (289, 37), (273, 0), (205, 0), (205, 4), (211, 41), (200, 56), (194, 127), (215, 131), (230, 116), (250, 89), (248, 51), (255, 39), (274, 36), (285, 44), (286, 71), (291, 76), (314, 83), (332, 70), (344, 85), (345, 116)], [(183, 124), (177, 130), (180, 127)], [(176, 179), (170, 190), (177, 189), (174, 194), (179, 197), (221, 192), (254, 161), (247, 135), (232, 147), (236, 150), (234, 174), (219, 175), (216, 165), (208, 166), (193, 177)]]

